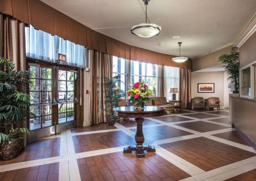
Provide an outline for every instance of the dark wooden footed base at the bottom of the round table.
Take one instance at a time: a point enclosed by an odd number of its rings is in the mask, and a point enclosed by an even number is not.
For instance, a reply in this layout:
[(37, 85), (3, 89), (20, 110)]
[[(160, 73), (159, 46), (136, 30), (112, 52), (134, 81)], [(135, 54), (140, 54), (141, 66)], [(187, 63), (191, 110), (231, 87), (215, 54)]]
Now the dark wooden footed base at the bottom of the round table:
[(132, 152), (135, 152), (137, 157), (145, 157), (145, 153), (156, 152), (156, 149), (155, 147), (152, 147), (150, 145), (142, 145), (142, 147), (131, 145), (129, 147), (124, 148), (124, 154), (132, 153)]

